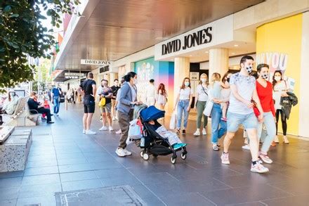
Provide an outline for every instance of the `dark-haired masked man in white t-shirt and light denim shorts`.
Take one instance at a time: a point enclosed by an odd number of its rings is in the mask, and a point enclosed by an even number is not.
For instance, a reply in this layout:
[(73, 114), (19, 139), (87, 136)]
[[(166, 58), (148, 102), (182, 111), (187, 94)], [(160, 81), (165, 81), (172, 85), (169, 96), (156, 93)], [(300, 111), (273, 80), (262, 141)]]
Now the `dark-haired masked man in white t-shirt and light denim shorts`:
[[(249, 75), (252, 71), (254, 58), (244, 56), (240, 60), (240, 71), (230, 77), (230, 105), (228, 108), (228, 132), (224, 139), (224, 152), (221, 155), (222, 164), (230, 164), (228, 148), (232, 142), (239, 124), (244, 126), (250, 140), (250, 150), (252, 156), (251, 172), (264, 173), (268, 168), (261, 165), (258, 160), (258, 121), (263, 121), (263, 109), (261, 107), (258, 94), (256, 92), (256, 79)], [(254, 115), (253, 103), (256, 102), (261, 114), (258, 119)]]

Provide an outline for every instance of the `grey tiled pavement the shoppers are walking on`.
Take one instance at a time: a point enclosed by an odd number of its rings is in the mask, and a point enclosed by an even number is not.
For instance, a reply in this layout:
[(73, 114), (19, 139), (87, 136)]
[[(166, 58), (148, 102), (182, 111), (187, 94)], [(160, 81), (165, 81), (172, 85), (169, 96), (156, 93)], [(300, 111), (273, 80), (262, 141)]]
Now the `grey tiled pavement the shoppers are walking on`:
[[(55, 124), (27, 127), (33, 132), (27, 169), (0, 174), (1, 206), (56, 205), (55, 193), (112, 186), (126, 186), (121, 193), (132, 189), (137, 198), (156, 206), (309, 202), (309, 141), (290, 139), (289, 145), (271, 148), (274, 163), (266, 165), (270, 172), (253, 174), (250, 153), (241, 148), (242, 131), (231, 146), (231, 165), (221, 165), (222, 148), (211, 150), (210, 135), (194, 138), (195, 122), (190, 121), (188, 134), (181, 138), (188, 143), (188, 157), (185, 161), (178, 157), (172, 165), (170, 155), (142, 160), (136, 146), (129, 146), (131, 157), (117, 157), (114, 150), (119, 135), (98, 131), (98, 108), (92, 124), (98, 134), (94, 136), (81, 133), (82, 105), (68, 108), (65, 111), (61, 105), (60, 117), (53, 117)], [(119, 127), (114, 124), (116, 131)], [(119, 193), (121, 198), (124, 195)]]

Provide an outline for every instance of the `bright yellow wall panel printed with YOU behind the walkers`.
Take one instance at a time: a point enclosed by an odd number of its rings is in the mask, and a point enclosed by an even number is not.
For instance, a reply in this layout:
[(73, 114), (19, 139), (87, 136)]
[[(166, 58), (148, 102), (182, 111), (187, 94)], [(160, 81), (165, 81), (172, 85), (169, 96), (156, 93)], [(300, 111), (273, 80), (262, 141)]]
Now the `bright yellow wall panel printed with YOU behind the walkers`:
[[(256, 34), (256, 54), (258, 63), (268, 63), (271, 65), (270, 54), (279, 53), (282, 58), (281, 67), (277, 70), (285, 69), (284, 76), (295, 80), (294, 93), (299, 96), (300, 72), (301, 72), (301, 32), (303, 14), (269, 22), (258, 27)], [(287, 59), (286, 59), (287, 58)], [(284, 67), (284, 60), (287, 60)], [(275, 61), (276, 62), (276, 61)], [(274, 63), (276, 65), (276, 63)], [(271, 68), (271, 72), (276, 68)], [(288, 134), (298, 135), (299, 108), (296, 105), (291, 110), (288, 120)], [(281, 125), (279, 128), (282, 128)]]

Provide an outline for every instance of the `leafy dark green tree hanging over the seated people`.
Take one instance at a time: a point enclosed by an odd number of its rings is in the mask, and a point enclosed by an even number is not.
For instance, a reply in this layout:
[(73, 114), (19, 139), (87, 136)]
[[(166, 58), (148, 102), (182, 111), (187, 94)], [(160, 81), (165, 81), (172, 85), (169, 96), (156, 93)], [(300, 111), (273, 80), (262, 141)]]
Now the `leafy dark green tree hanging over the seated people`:
[(32, 58), (50, 58), (55, 39), (41, 20), (51, 17), (51, 25), (60, 27), (61, 13), (74, 11), (79, 0), (8, 0), (0, 1), (0, 88), (15, 86), (34, 78)]

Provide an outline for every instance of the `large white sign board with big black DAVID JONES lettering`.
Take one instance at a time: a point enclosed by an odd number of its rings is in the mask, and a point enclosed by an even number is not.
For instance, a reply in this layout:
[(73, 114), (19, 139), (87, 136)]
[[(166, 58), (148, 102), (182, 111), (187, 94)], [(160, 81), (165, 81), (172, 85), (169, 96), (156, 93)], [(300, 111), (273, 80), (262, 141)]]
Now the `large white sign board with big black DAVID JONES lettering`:
[[(189, 56), (192, 51), (210, 49), (234, 41), (233, 15), (215, 20), (155, 45), (155, 60)], [(199, 54), (200, 55), (200, 54)]]

